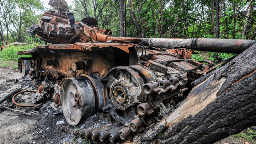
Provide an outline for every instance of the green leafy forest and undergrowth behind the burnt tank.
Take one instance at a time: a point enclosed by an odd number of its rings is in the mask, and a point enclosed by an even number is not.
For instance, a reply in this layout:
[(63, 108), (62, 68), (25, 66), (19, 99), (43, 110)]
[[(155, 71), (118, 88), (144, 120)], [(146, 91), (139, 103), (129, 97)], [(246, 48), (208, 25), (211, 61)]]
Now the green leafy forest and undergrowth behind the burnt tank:
[[(0, 44), (32, 44), (5, 49), (0, 53), (0, 66), (17, 61), (21, 48), (44, 45), (26, 30), (39, 23), (43, 11), (51, 9), (44, 7), (45, 3), (48, 1), (0, 0)], [(251, 39), (256, 34), (255, 0), (72, 0), (68, 4), (76, 21), (94, 17), (100, 28), (113, 32), (112, 36), (125, 33), (126, 37)], [(125, 31), (120, 28), (124, 20)], [(226, 59), (233, 54), (215, 56)], [(192, 59), (214, 61), (214, 53), (192, 55)]]

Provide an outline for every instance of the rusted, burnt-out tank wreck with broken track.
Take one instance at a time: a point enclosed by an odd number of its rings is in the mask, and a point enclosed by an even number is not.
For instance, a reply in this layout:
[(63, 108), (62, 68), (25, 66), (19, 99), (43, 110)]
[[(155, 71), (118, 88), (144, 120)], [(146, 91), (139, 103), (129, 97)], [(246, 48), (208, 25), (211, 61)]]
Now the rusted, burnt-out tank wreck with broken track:
[[(33, 103), (50, 100), (76, 126), (107, 113), (110, 126), (76, 131), (86, 139), (129, 140), (170, 114), (193, 88), (193, 81), (217, 66), (190, 59), (194, 50), (241, 53), (255, 40), (111, 37), (94, 18), (75, 21), (63, 0), (50, 0), (39, 24), (27, 33), (50, 43), (20, 51), (18, 69), (44, 79)], [(230, 59), (228, 59), (230, 60)], [(222, 64), (228, 62), (224, 60)], [(207, 63), (207, 64), (205, 64)]]

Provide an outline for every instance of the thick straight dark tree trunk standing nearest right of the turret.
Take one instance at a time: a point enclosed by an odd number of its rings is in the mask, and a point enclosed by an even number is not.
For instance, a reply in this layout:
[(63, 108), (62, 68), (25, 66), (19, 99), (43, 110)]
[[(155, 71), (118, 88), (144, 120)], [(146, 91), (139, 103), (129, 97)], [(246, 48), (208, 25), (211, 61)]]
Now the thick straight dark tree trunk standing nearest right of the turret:
[(126, 0), (120, 0), (120, 36), (126, 37)]

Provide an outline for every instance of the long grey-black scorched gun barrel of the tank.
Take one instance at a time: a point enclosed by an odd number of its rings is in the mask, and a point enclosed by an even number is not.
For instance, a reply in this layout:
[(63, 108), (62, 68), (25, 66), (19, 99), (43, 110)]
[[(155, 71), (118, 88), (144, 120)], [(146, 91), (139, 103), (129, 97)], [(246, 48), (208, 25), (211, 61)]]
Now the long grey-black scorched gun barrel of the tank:
[(217, 39), (217, 38), (141, 38), (140, 43), (149, 47), (168, 49), (187, 48), (207, 52), (241, 53), (253, 44), (255, 40), (246, 39)]

